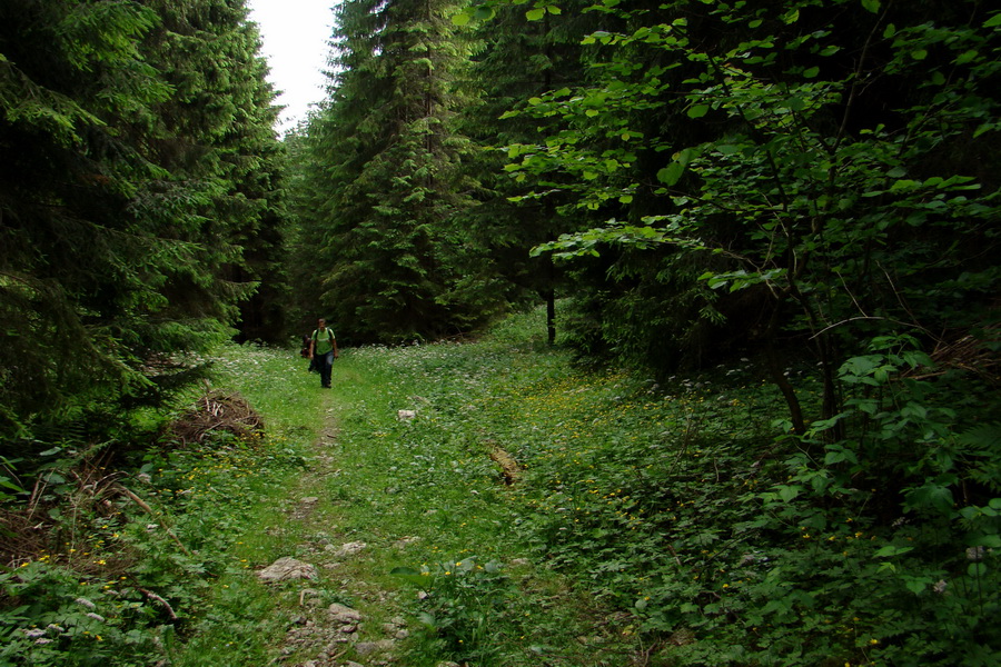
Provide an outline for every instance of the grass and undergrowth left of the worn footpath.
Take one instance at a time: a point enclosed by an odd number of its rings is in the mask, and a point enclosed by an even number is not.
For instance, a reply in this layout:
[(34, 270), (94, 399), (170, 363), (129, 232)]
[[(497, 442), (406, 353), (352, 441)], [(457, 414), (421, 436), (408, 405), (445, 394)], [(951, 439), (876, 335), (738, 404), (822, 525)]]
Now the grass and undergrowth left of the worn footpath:
[[(30, 497), (4, 507), (21, 550), (0, 573), (0, 665), (236, 665), (269, 655), (280, 627), (261, 625), (272, 605), (250, 568), (271, 554), (241, 536), (276, 520), (267, 499), (301, 471), (319, 418), (286, 367), (250, 346), (217, 360), (217, 382), (239, 384), (269, 408), (268, 429), (252, 437), (219, 430), (178, 442), (165, 427), (188, 409), (181, 401), (172, 414), (130, 416), (108, 441), (46, 452)], [(275, 391), (303, 398), (278, 409)], [(225, 659), (188, 650), (204, 645)]]

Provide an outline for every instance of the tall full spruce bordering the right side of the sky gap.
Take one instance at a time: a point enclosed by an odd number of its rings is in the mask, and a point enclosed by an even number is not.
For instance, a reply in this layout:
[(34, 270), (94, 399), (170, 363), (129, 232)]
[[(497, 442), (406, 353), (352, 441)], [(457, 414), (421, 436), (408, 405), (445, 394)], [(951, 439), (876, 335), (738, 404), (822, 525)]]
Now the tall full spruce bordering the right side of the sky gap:
[[(465, 206), (455, 132), (450, 0), (345, 2), (330, 100), (311, 123), (311, 280), (347, 337), (396, 341), (463, 330), (494, 307), (469, 280), (477, 249), (453, 219)], [(318, 261), (317, 261), (318, 260)]]

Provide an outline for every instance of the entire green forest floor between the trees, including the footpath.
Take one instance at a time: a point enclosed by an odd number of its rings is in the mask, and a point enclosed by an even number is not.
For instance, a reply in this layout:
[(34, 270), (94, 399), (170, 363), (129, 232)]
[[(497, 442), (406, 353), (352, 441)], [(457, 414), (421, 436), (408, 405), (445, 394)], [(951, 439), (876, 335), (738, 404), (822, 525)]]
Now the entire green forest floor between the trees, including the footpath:
[[(242, 438), (49, 452), (31, 520), (66, 541), (2, 575), (21, 605), (0, 611), (0, 664), (998, 655), (997, 549), (950, 548), (888, 488), (811, 494), (750, 360), (664, 385), (575, 369), (538, 310), (476, 341), (347, 350), (331, 390), (306, 365), (254, 345), (218, 357), (208, 396), (238, 392), (264, 425)], [(288, 558), (298, 574), (261, 580)]]

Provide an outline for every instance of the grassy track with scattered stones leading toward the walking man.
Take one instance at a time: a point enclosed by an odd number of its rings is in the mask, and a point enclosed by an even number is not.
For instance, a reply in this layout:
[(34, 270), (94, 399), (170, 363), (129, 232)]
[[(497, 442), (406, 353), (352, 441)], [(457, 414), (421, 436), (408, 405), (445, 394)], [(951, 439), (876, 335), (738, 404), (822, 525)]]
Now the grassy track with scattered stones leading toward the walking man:
[[(518, 444), (508, 440), (506, 418), (490, 414), (492, 404), (506, 400), (497, 392), (552, 381), (565, 372), (559, 354), (503, 336), (348, 350), (335, 364), (329, 391), (298, 359), (254, 355), (260, 372), (235, 360), (227, 381), (259, 406), (272, 431), (297, 436), (306, 462), (261, 497), (259, 518), (237, 540), (236, 555), (248, 570), (295, 557), (317, 577), (221, 583), (226, 591), (239, 590), (247, 608), (268, 609), (259, 641), (239, 647), (227, 637), (231, 627), (206, 626), (181, 664), (642, 660), (627, 618), (537, 563), (519, 535), (525, 485), (511, 484), (514, 470), (498, 464), (498, 452), (516, 452)], [(268, 378), (276, 372), (293, 374), (283, 376), (281, 389), (294, 386), (296, 397), (275, 396)], [(331, 605), (359, 619), (331, 615)]]

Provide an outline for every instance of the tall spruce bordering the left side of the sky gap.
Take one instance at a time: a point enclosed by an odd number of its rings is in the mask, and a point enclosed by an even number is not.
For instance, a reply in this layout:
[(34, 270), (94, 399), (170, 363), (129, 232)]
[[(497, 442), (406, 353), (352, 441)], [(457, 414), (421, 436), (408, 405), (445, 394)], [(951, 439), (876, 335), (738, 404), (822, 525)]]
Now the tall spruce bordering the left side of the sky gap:
[[(162, 24), (146, 48), (176, 94), (157, 109), (155, 146), (171, 171), (170, 190), (187, 205), (171, 213), (171, 223), (188, 217), (187, 231), (205, 241), (198, 261), (216, 269), (198, 288), (227, 305), (215, 315), (239, 323), (244, 338), (276, 340), (283, 328), (272, 306), (280, 289), (281, 156), (259, 36), (244, 0), (162, 2), (159, 11)], [(177, 276), (172, 287), (189, 303), (192, 278)], [(268, 279), (266, 293), (251, 291), (261, 278)]]

